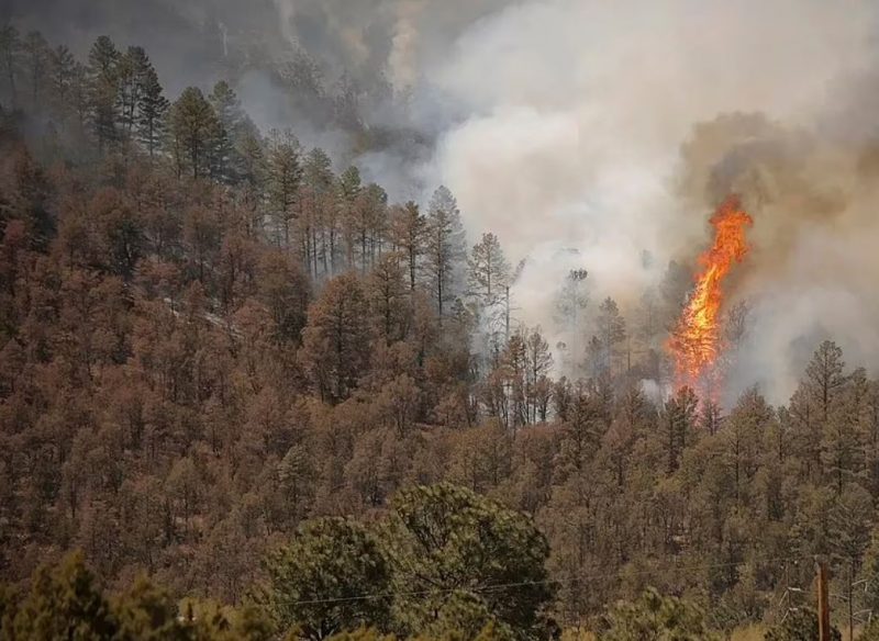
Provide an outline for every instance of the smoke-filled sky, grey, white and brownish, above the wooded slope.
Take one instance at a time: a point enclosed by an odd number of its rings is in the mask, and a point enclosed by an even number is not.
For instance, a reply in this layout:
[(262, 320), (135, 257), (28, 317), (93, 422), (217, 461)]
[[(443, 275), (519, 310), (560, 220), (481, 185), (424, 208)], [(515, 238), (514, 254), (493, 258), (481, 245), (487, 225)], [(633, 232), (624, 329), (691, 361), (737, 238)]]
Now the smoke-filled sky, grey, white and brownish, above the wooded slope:
[(390, 145), (357, 159), (365, 173), (396, 198), (447, 184), (474, 238), (527, 258), (519, 315), (547, 330), (570, 268), (589, 270), (593, 302), (631, 310), (739, 191), (754, 251), (732, 297), (753, 312), (731, 392), (759, 382), (785, 401), (825, 336), (879, 366), (875, 2), (2, 1), (79, 52), (99, 33), (143, 44), (173, 92), (246, 68), (259, 124), (336, 157), (344, 134), (299, 122), (260, 66), (300, 48), (330, 80), (387, 79), (393, 99), (365, 117), (421, 132), (427, 151)]

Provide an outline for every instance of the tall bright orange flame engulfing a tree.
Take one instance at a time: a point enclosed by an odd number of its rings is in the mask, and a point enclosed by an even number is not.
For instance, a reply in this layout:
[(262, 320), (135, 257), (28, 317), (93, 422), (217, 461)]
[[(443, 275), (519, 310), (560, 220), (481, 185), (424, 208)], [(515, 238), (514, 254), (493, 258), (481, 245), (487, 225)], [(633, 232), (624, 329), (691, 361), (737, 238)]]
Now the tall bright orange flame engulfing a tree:
[(696, 286), (669, 341), (675, 359), (676, 386), (716, 392), (717, 357), (723, 350), (721, 316), (723, 281), (748, 252), (745, 232), (754, 224), (737, 196), (727, 198), (711, 217), (714, 243), (699, 257)]

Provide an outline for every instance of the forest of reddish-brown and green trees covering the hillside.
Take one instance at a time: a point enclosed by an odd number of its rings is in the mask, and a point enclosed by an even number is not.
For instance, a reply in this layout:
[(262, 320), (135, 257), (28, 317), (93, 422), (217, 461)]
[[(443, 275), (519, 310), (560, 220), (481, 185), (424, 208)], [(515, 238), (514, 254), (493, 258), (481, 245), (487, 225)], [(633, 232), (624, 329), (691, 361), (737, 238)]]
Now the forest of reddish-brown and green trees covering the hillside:
[(832, 337), (786, 405), (658, 396), (686, 266), (546, 283), (550, 345), (445, 187), (107, 36), (7, 25), (0, 70), (0, 639), (817, 639), (819, 558), (879, 639), (879, 381)]

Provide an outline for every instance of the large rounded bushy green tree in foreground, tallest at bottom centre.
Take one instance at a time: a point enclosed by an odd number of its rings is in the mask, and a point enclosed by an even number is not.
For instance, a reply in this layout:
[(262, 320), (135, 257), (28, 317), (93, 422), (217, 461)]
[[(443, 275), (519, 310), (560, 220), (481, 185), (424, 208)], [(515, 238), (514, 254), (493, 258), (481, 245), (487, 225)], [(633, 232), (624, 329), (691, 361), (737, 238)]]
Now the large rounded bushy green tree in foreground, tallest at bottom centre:
[[(394, 611), (408, 632), (467, 603), (524, 637), (549, 636), (542, 616), (553, 596), (549, 549), (526, 515), (444, 483), (399, 492), (389, 520)], [(480, 589), (511, 583), (516, 589)]]

